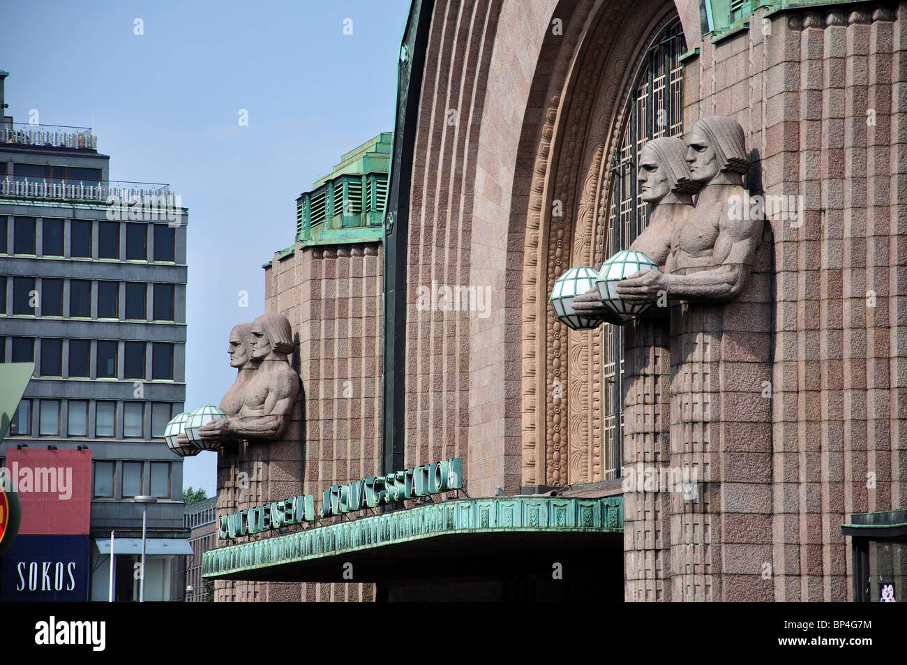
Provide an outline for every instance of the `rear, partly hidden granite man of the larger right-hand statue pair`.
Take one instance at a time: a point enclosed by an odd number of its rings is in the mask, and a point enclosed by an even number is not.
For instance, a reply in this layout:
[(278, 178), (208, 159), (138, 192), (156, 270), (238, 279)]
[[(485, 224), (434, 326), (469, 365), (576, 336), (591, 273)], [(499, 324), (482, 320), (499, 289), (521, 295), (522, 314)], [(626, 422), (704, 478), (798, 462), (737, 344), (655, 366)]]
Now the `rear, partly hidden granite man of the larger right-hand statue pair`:
[[(693, 209), (693, 194), (701, 186), (691, 177), (686, 160), (687, 143), (678, 138), (654, 139), (639, 153), (640, 196), (652, 206), (649, 226), (639, 234), (629, 249), (641, 251), (664, 269), (671, 253), (675, 229)], [(652, 272), (658, 272), (653, 270)], [(641, 274), (641, 273), (640, 273)], [(627, 280), (621, 282), (626, 283)], [(601, 302), (596, 288), (574, 298), (577, 314), (593, 320), (621, 325), (629, 320), (615, 314)], [(646, 315), (663, 315), (662, 308), (651, 308)]]

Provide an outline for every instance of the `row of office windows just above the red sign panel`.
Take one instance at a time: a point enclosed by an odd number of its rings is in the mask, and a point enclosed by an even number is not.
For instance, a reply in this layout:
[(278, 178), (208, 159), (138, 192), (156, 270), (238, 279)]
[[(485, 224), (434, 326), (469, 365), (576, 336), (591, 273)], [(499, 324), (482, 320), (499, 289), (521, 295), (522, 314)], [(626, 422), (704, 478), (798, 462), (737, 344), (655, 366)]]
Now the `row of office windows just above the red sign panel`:
[(24, 398), (13, 415), (10, 436), (159, 439), (172, 417), (170, 402)]

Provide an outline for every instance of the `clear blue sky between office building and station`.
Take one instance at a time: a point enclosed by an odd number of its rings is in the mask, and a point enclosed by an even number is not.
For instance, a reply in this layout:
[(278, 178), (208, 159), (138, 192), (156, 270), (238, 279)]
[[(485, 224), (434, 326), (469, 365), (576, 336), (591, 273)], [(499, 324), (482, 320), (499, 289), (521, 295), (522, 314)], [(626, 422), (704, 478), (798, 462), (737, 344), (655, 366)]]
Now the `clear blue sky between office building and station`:
[[(409, 0), (4, 5), (6, 114), (93, 126), (112, 180), (170, 183), (189, 208), (188, 410), (218, 404), (232, 383), (229, 329), (263, 313), (261, 264), (293, 244), (296, 197), (342, 153), (393, 130), (408, 10)], [(216, 464), (214, 453), (187, 458), (184, 486), (210, 495)]]

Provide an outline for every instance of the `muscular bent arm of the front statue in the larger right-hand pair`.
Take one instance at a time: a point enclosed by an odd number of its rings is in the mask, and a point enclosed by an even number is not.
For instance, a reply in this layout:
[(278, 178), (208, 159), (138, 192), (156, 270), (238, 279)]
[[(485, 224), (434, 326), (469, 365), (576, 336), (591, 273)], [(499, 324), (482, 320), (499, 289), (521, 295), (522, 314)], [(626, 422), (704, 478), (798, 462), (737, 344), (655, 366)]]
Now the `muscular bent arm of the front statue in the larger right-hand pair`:
[(647, 302), (667, 291), (669, 298), (694, 301), (723, 301), (736, 298), (749, 277), (759, 240), (762, 220), (732, 220), (724, 210), (718, 222), (718, 236), (712, 259), (715, 267), (688, 275), (666, 275), (642, 270), (617, 285), (620, 298)]

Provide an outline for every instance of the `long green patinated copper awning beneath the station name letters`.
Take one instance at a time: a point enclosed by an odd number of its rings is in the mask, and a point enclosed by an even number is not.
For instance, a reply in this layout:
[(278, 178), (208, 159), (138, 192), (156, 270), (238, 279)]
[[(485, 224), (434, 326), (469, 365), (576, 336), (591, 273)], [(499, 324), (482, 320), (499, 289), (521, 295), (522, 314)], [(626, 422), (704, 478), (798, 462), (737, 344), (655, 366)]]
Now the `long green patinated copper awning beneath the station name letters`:
[(623, 547), (623, 498), (482, 497), (420, 505), (206, 552), (202, 576), (355, 582), (509, 574)]

